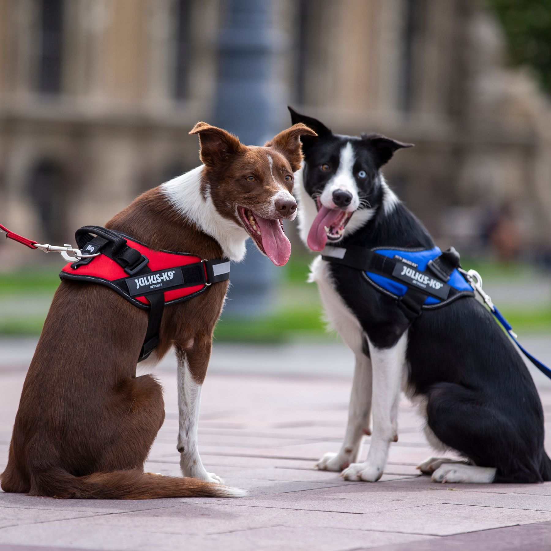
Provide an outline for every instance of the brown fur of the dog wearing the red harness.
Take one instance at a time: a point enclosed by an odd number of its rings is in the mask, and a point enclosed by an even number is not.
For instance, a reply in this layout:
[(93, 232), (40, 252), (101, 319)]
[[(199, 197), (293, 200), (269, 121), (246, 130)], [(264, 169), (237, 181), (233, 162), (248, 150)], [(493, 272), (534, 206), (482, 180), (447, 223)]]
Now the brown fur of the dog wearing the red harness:
[[(213, 202), (219, 214), (240, 224), (237, 206), (247, 203), (262, 212), (269, 196), (263, 187), (272, 185), (267, 181), (266, 153), (261, 154), (266, 149), (247, 148), (206, 123), (198, 123), (192, 132), (201, 133), (201, 157), (207, 165), (203, 192), (210, 188), (217, 197)], [(285, 149), (296, 132), (282, 134), (269, 146), (278, 153), (274, 157), (281, 174), (292, 170), (300, 156), (296, 147)], [(261, 185), (255, 182), (258, 192), (252, 195), (236, 182), (249, 172), (262, 180)], [(106, 227), (153, 249), (223, 257), (218, 242), (177, 213), (160, 188), (143, 193)], [(207, 372), (227, 287), (228, 282), (213, 284), (164, 311), (155, 354), (161, 358), (174, 344), (198, 383)], [(152, 375), (136, 377), (147, 323), (147, 312), (114, 291), (62, 280), (21, 393), (8, 466), (0, 476), (4, 491), (102, 499), (229, 495), (220, 484), (143, 474), (165, 416), (159, 383)]]

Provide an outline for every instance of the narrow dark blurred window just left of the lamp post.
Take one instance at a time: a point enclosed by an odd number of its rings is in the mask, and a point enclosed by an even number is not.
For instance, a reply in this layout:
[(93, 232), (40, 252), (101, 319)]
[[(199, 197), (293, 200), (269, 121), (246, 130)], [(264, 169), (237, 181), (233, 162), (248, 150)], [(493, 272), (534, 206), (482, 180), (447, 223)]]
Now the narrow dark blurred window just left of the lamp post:
[(192, 0), (175, 0), (175, 78), (174, 98), (184, 100), (190, 95), (191, 61), (191, 3)]

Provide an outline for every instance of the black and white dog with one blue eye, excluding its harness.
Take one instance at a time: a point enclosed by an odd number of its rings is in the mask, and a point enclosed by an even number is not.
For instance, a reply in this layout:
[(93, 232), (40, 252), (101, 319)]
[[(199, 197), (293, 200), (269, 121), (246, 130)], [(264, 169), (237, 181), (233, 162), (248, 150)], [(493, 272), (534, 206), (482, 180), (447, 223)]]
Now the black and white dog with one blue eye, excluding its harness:
[[(317, 137), (301, 137), (304, 165), (295, 173), (299, 229), (310, 249), (326, 242), (432, 249), (431, 236), (388, 187), (380, 169), (409, 144), (377, 134), (333, 134), (290, 109)], [(397, 441), (402, 389), (426, 418), (425, 434), (439, 451), (464, 461), (430, 458), (419, 468), (434, 482), (551, 480), (543, 447), (543, 409), (530, 372), (514, 345), (477, 300), (467, 297), (411, 321), (397, 300), (366, 282), (359, 269), (317, 257), (311, 280), (326, 314), (356, 356), (349, 417), (341, 451), (320, 469), (347, 480), (379, 480), (390, 442)], [(371, 434), (366, 461), (361, 440)]]

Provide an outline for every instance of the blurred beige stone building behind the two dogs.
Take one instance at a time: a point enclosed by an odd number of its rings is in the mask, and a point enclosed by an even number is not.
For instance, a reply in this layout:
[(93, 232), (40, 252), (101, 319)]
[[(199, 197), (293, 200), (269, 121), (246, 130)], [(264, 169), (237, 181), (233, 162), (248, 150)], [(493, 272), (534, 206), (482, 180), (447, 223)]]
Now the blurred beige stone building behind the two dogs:
[[(187, 132), (213, 121), (226, 1), (0, 0), (0, 221), (72, 242), (196, 166)], [(504, 68), (480, 2), (262, 1), (276, 131), (290, 103), (339, 133), (412, 142), (385, 172), (441, 245), (482, 250), (505, 213), (527, 250), (550, 246), (551, 111)], [(3, 268), (21, 262), (0, 243)]]

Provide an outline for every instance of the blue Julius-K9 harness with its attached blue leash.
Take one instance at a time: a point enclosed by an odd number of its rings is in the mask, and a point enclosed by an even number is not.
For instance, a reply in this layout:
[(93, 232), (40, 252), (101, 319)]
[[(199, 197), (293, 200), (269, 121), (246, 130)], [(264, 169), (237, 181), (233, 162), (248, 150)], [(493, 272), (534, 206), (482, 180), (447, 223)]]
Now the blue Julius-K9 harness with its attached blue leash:
[(328, 245), (321, 251), (321, 257), (328, 262), (361, 270), (366, 282), (380, 293), (397, 300), (410, 321), (420, 316), (423, 310), (446, 306), (463, 296), (474, 298), (476, 291), (521, 352), (551, 379), (551, 369), (522, 347), (510, 323), (490, 296), (484, 293), (478, 272), (466, 272), (461, 268), (459, 254), (453, 247), (442, 252), (438, 247), (365, 249), (356, 245), (346, 248)]

